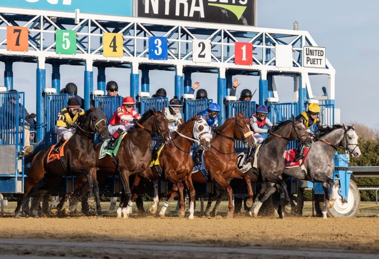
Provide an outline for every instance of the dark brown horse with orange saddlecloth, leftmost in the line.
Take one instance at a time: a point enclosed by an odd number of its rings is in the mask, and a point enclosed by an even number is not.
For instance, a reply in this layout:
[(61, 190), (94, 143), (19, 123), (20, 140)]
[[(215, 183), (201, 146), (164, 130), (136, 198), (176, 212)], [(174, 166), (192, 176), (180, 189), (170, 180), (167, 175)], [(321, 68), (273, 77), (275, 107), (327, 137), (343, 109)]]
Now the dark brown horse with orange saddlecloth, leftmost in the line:
[(79, 117), (76, 133), (67, 140), (64, 148), (64, 157), (67, 160), (67, 171), (61, 165), (59, 160), (47, 163), (48, 154), (51, 146), (37, 152), (31, 162), (28, 172), (27, 181), (24, 186), (24, 194), (21, 196), (14, 211), (15, 218), (19, 217), (21, 204), (27, 197), (31, 188), (37, 184), (44, 176), (46, 183), (39, 192), (38, 199), (31, 205), (31, 216), (38, 217), (34, 213), (35, 205), (39, 204), (42, 196), (55, 188), (62, 176), (84, 174), (88, 183), (88, 193), (91, 196), (95, 194), (97, 216), (102, 217), (99, 188), (96, 181), (96, 151), (93, 146), (95, 133), (99, 134), (103, 139), (109, 136), (106, 125), (107, 117), (103, 113), (102, 105), (100, 108), (91, 108)]

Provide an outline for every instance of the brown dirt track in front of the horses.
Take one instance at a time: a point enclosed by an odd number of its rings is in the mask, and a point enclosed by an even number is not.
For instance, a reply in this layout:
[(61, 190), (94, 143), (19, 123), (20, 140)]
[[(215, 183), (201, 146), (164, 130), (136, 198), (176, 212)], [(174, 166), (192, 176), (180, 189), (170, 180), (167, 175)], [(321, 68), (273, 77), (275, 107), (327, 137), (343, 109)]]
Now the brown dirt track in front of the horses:
[(0, 236), (1, 254), (12, 258), (375, 258), (379, 217), (0, 218)]

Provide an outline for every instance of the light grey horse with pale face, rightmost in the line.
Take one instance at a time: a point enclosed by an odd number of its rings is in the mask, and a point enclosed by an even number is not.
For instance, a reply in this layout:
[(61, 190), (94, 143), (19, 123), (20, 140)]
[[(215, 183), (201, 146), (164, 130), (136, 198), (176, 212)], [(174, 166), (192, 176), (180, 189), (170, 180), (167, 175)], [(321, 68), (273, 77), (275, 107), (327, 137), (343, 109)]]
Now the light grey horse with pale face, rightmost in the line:
[[(343, 148), (353, 157), (359, 157), (361, 150), (353, 126), (333, 125), (321, 128), (318, 132), (304, 162), (305, 172), (302, 167), (290, 167), (286, 168), (283, 174), (299, 180), (322, 183), (325, 193), (322, 214), (326, 219), (328, 208), (333, 207), (338, 197), (337, 188), (331, 179), (335, 168), (334, 154), (338, 148)], [(332, 195), (329, 194), (329, 187), (332, 189)]]

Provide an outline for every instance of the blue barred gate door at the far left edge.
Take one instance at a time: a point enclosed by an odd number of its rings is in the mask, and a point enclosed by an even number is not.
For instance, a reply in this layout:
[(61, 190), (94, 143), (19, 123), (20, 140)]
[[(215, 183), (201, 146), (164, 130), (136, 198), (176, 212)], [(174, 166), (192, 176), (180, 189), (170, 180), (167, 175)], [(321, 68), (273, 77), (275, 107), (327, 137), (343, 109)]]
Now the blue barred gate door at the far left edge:
[(24, 93), (0, 93), (0, 190), (23, 193)]

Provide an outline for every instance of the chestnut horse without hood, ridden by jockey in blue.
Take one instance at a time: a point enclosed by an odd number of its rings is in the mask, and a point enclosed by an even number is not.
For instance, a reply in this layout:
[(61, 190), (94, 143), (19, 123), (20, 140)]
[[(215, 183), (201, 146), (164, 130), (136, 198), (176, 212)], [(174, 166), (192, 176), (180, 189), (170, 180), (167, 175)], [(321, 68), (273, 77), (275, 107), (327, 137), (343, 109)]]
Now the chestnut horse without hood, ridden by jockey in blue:
[(244, 114), (235, 114), (235, 119), (227, 119), (213, 136), (211, 141), (212, 148), (204, 152), (204, 165), (209, 176), (205, 177), (200, 171), (192, 173), (193, 182), (206, 183), (214, 181), (226, 189), (229, 198), (228, 218), (233, 217), (232, 189), (228, 183), (228, 178), (245, 180), (249, 192), (249, 199), (246, 204), (248, 207), (253, 204), (250, 178), (237, 167), (237, 155), (234, 151), (235, 140), (243, 140), (249, 147), (255, 144), (253, 133), (250, 131)]

